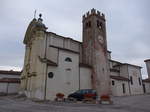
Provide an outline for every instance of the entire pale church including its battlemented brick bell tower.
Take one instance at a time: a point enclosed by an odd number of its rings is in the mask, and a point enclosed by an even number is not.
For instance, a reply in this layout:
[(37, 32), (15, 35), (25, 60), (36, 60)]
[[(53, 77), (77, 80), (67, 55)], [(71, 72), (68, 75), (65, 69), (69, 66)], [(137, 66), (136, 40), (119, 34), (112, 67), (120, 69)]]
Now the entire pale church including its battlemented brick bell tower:
[(111, 59), (106, 18), (95, 9), (82, 17), (82, 42), (48, 32), (39, 18), (26, 31), (21, 91), (29, 98), (54, 100), (57, 93), (95, 89), (99, 96), (143, 94), (141, 67)]

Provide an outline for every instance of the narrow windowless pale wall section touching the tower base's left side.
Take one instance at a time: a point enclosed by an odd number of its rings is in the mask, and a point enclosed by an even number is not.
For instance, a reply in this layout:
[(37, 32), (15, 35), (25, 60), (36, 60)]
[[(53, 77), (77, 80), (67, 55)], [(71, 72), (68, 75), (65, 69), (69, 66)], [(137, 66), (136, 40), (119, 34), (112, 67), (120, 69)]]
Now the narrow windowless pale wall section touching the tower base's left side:
[(80, 89), (92, 89), (90, 68), (80, 67)]

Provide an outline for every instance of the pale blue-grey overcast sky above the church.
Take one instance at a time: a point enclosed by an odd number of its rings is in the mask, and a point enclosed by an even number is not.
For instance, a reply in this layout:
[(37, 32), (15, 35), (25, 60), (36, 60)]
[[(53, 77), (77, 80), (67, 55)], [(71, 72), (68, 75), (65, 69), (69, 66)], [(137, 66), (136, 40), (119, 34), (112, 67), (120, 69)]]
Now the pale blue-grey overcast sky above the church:
[(150, 0), (0, 0), (0, 69), (22, 69), (23, 39), (34, 11), (48, 31), (82, 41), (82, 15), (92, 8), (107, 20), (112, 58), (138, 64), (150, 58)]

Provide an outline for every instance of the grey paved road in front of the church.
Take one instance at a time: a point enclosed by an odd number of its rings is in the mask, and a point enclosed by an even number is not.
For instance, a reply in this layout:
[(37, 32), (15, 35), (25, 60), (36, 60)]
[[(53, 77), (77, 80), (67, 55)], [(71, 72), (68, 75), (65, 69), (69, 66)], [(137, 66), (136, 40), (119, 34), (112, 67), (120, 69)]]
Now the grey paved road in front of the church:
[(32, 102), (29, 99), (0, 97), (0, 112), (150, 112), (150, 95), (113, 97), (113, 105)]

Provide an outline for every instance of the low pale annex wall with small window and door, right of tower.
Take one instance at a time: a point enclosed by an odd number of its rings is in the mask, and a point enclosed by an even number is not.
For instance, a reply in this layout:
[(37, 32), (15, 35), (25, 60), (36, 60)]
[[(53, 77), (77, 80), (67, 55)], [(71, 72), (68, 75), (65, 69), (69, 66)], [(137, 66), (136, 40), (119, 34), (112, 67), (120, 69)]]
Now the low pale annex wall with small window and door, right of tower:
[[(112, 85), (112, 81), (114, 81), (114, 85)], [(123, 93), (123, 84), (125, 87), (125, 93)], [(127, 96), (129, 93), (129, 85), (127, 81), (114, 80), (111, 79), (111, 92), (113, 96)]]

